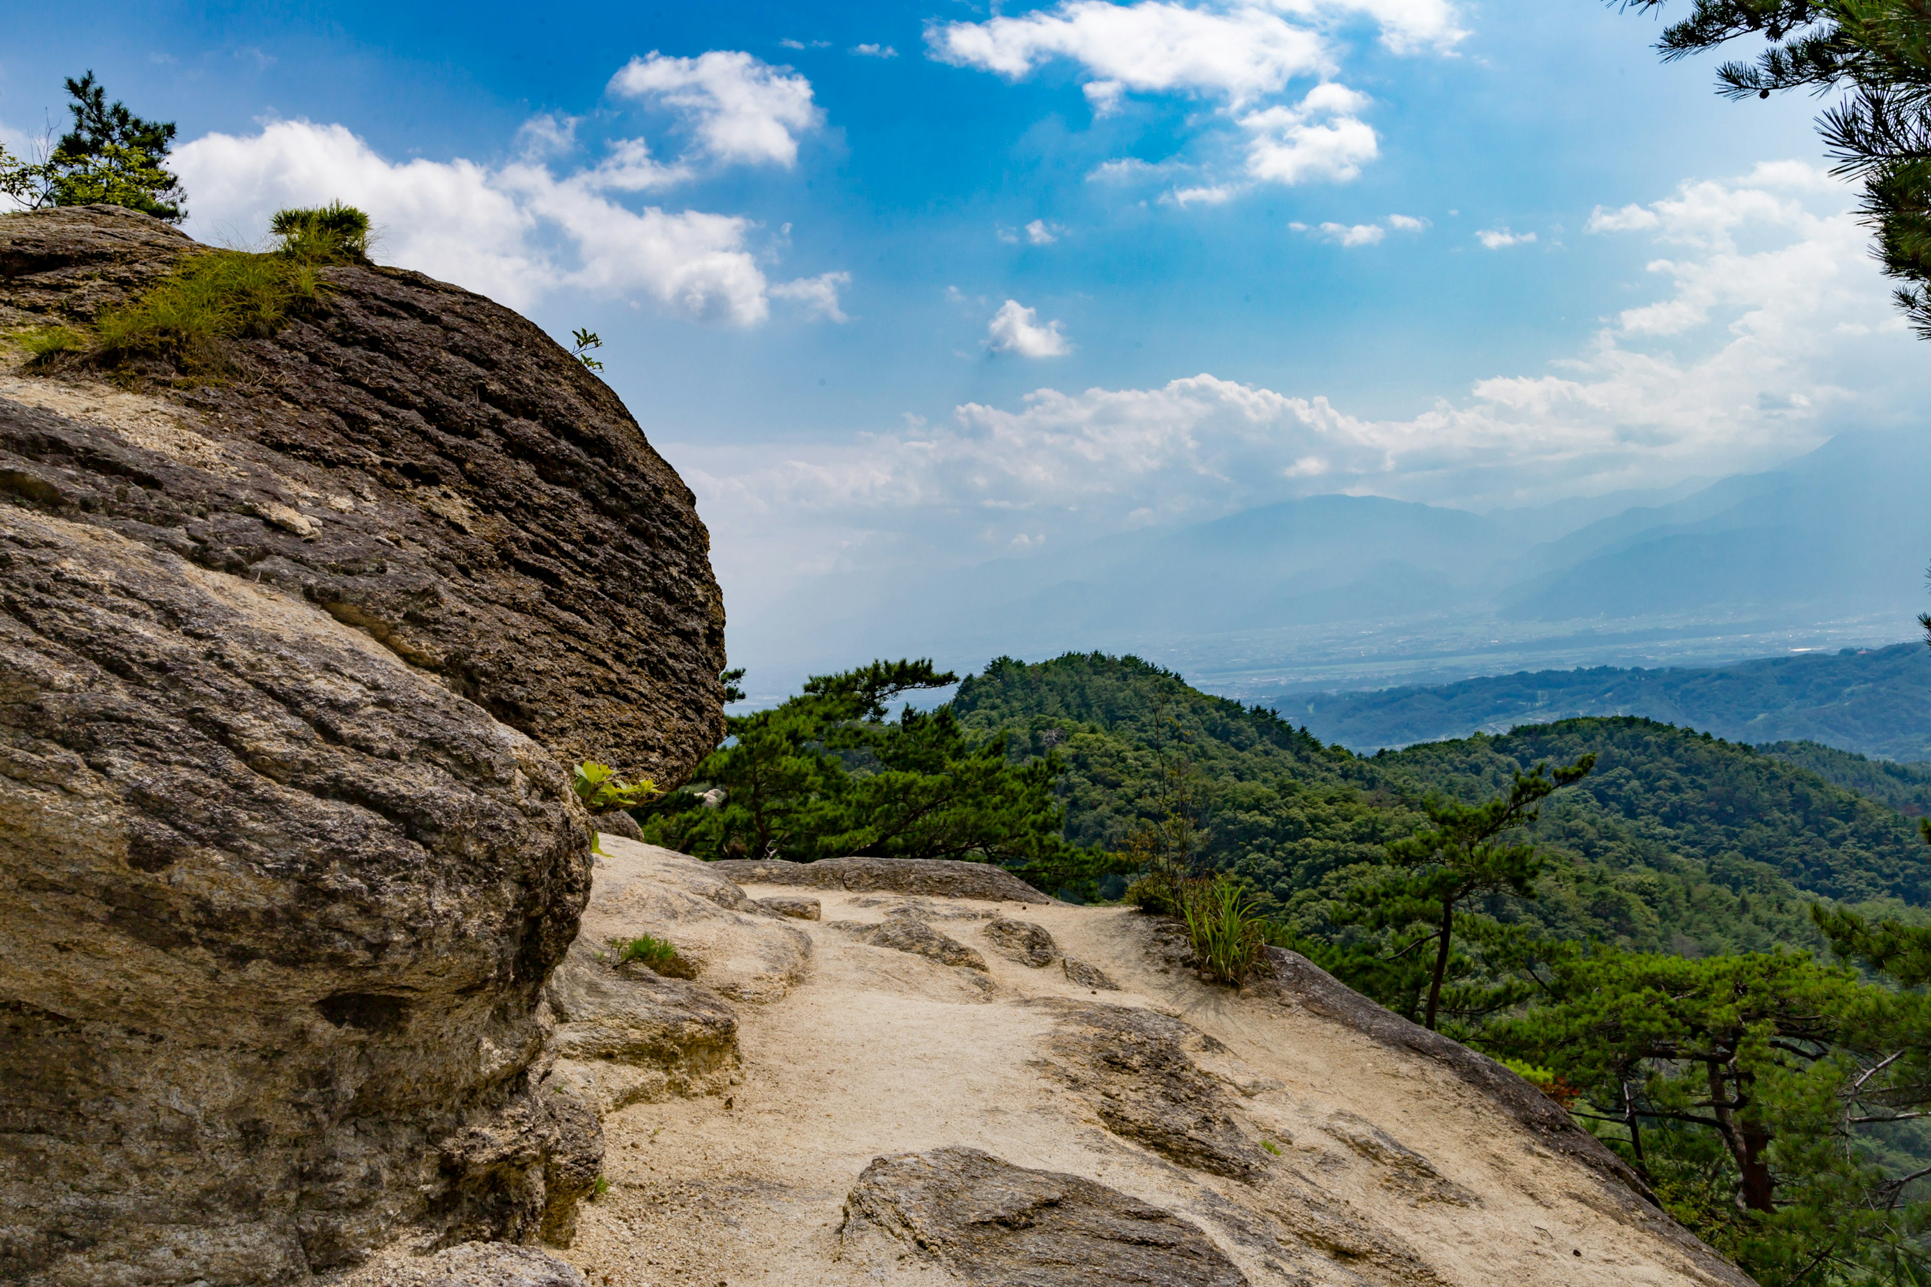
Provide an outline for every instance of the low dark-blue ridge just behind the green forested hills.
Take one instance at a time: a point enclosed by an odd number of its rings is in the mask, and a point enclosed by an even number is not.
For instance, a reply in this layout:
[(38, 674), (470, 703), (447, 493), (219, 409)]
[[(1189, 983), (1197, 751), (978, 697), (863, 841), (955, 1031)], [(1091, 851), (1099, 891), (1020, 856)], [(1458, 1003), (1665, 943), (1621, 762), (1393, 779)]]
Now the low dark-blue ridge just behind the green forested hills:
[[(1377, 693), (1288, 691), (1259, 700), (1315, 737), (1357, 753), (1572, 716), (1647, 716), (1751, 745), (1809, 741), (1885, 760), (1931, 760), (1931, 648), (1921, 643), (1707, 670), (1597, 666)], [(1796, 754), (1784, 758), (1833, 780), (1846, 772)]]

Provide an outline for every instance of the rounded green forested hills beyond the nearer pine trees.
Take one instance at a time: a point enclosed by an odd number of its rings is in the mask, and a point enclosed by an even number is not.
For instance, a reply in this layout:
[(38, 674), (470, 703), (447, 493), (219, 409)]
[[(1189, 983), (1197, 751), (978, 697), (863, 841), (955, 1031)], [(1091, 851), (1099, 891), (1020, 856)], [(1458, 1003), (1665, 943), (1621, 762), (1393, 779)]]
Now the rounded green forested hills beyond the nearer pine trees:
[(1203, 849), (1286, 905), (1303, 934), (1429, 793), (1506, 789), (1516, 768), (1597, 753), (1595, 774), (1545, 808), (1551, 853), (1535, 901), (1485, 909), (1564, 938), (1705, 955), (1817, 942), (1817, 897), (1887, 909), (1931, 901), (1931, 864), (1894, 808), (1769, 754), (1641, 718), (1581, 718), (1356, 756), (1273, 712), (1197, 693), (1135, 658), (1000, 660), (954, 700), (962, 724), (1012, 735), (1008, 754), (1054, 749), (1066, 835), (1116, 845), (1161, 808), (1161, 768), (1184, 760)]

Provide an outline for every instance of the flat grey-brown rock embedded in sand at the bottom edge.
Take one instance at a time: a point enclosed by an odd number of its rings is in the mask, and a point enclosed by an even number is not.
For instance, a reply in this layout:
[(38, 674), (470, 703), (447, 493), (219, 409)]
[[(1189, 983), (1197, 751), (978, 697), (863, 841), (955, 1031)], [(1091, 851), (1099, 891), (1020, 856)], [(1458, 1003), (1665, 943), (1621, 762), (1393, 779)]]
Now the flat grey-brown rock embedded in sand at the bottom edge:
[(846, 1198), (846, 1254), (937, 1260), (967, 1283), (1000, 1287), (1245, 1287), (1201, 1231), (1079, 1175), (1029, 1171), (977, 1148), (877, 1158)]

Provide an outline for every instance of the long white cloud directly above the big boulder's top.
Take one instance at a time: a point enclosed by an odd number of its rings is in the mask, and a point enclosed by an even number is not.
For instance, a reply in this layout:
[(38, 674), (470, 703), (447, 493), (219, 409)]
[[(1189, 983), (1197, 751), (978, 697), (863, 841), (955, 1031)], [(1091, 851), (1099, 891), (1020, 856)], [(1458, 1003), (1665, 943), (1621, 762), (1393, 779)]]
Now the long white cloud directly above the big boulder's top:
[(253, 239), (282, 206), (340, 199), (369, 212), (390, 262), (510, 307), (587, 289), (732, 324), (769, 313), (745, 220), (610, 201), (606, 191), (655, 181), (641, 143), (558, 178), (531, 160), (390, 162), (342, 125), (270, 122), (257, 135), (185, 143), (172, 164), (193, 193), (187, 230), (203, 239)]

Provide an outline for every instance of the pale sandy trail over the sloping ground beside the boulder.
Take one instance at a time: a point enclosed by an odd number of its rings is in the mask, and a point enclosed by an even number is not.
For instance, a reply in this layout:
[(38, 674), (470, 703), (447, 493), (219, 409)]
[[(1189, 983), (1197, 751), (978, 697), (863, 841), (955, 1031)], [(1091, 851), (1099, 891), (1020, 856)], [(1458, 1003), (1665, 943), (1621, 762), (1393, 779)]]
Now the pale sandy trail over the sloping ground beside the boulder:
[[(855, 1258), (840, 1239), (867, 1164), (942, 1146), (1170, 1210), (1249, 1283), (1746, 1281), (1632, 1223), (1612, 1181), (1543, 1148), (1439, 1063), (1278, 998), (1201, 982), (1164, 959), (1157, 922), (1135, 911), (811, 893), (823, 920), (782, 922), (811, 936), (809, 974), (778, 999), (738, 1005), (734, 1084), (606, 1117), (610, 1191), (583, 1208), (564, 1252), (591, 1283), (962, 1281), (910, 1245), (902, 1258)], [(987, 972), (867, 945), (838, 924), (875, 924), (908, 903), (979, 949)], [(1120, 990), (1076, 986), (1058, 961), (1033, 969), (998, 955), (985, 936), (994, 915), (1045, 926)], [(1180, 1165), (1110, 1129), (1106, 1113), (1135, 1086), (1070, 1082), (1072, 1046), (1056, 1036), (1068, 1015), (1116, 1013), (1083, 1009), (1095, 1005), (1205, 1034), (1189, 1055), (1215, 1086), (1201, 1094), (1232, 1106), (1224, 1117), (1240, 1138), (1228, 1148), (1269, 1150), (1251, 1152), (1259, 1179)], [(1199, 1121), (1213, 1111), (1203, 1102)]]

